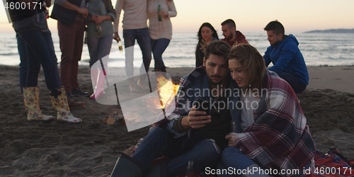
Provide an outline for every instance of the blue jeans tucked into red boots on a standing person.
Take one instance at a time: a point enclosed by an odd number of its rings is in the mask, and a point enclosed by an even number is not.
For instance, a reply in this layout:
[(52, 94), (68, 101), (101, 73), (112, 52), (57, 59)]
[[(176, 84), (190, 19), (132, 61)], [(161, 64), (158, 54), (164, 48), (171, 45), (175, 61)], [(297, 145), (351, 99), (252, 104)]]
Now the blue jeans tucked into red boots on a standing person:
[[(99, 59), (110, 54), (110, 47), (112, 47), (113, 35), (108, 35), (102, 38), (87, 38), (87, 47), (90, 53), (90, 68)], [(103, 64), (105, 67), (106, 63)]]

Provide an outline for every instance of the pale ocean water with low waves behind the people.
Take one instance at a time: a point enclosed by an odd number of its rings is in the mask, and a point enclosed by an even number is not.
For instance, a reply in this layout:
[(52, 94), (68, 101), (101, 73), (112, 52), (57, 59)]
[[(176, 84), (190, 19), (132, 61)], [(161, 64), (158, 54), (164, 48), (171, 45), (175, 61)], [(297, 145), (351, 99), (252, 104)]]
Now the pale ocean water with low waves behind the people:
[[(261, 55), (269, 46), (266, 33), (244, 33), (251, 45)], [(354, 33), (295, 33), (299, 41), (299, 49), (304, 55), (307, 66), (340, 66), (354, 65)], [(122, 36), (122, 34), (120, 34)], [(60, 62), (61, 52), (59, 37), (52, 33), (55, 54)], [(169, 47), (164, 52), (166, 67), (195, 67), (196, 33), (173, 33)], [(219, 38), (223, 38), (219, 34)], [(135, 44), (135, 67), (142, 63), (139, 45)], [(16, 66), (20, 62), (17, 50), (16, 33), (0, 33), (0, 64)], [(89, 50), (84, 44), (80, 65), (89, 65)], [(118, 44), (113, 40), (110, 53), (110, 67), (124, 67), (125, 55), (118, 51)], [(154, 60), (150, 67), (154, 67)]]

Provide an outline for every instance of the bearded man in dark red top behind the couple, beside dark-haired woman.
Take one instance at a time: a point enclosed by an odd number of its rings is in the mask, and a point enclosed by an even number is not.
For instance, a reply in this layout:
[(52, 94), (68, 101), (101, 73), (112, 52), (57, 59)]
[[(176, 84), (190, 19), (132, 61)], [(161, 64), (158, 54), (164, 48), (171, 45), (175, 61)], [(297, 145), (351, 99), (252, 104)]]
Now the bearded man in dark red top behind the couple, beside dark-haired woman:
[(222, 39), (222, 41), (227, 42), (231, 47), (240, 43), (249, 43), (246, 40), (246, 37), (244, 37), (244, 35), (239, 30), (236, 30), (236, 23), (232, 19), (227, 19), (226, 21), (222, 22), (221, 25), (222, 35), (225, 37)]

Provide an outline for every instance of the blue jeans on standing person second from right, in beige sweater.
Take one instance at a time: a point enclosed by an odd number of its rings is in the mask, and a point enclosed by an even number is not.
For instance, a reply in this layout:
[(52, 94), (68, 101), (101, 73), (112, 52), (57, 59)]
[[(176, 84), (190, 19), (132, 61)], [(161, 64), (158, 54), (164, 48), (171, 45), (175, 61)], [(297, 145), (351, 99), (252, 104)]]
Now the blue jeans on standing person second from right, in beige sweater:
[[(137, 40), (137, 43), (139, 44), (140, 49), (142, 50), (142, 62), (144, 64), (144, 67), (142, 66), (142, 69), (145, 69), (145, 72), (148, 72), (150, 62), (152, 61), (152, 44), (150, 41), (149, 29), (123, 29), (123, 38), (125, 49), (127, 49), (128, 47), (133, 47), (135, 45), (135, 40)], [(127, 73), (128, 80), (130, 80), (131, 82), (132, 76), (134, 76), (134, 57), (130, 52), (134, 52), (134, 50), (129, 50), (129, 52), (125, 50), (125, 72)], [(140, 72), (144, 71), (142, 69), (140, 69)]]

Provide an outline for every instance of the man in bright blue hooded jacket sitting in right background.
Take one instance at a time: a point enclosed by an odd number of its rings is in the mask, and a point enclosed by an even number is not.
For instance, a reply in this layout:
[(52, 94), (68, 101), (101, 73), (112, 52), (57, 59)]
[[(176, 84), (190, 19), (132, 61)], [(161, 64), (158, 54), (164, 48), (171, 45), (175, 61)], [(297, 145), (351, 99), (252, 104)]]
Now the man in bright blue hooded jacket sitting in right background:
[(274, 65), (269, 70), (287, 81), (295, 93), (302, 93), (309, 85), (309, 73), (304, 57), (299, 50), (299, 42), (294, 35), (285, 35), (285, 29), (279, 21), (271, 21), (265, 26), (270, 47), (263, 56), (265, 66)]

